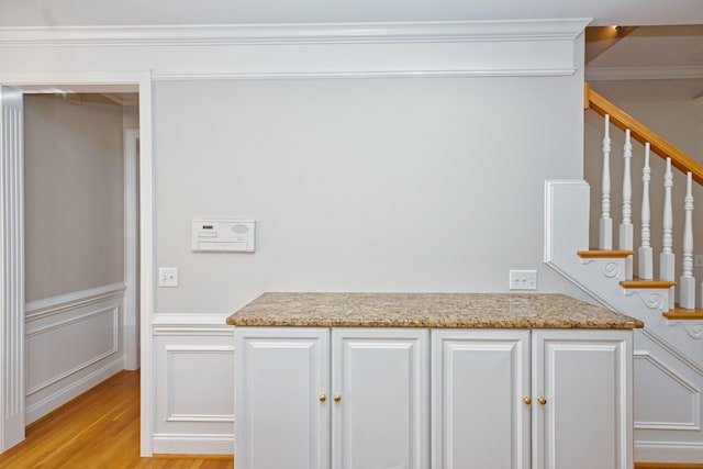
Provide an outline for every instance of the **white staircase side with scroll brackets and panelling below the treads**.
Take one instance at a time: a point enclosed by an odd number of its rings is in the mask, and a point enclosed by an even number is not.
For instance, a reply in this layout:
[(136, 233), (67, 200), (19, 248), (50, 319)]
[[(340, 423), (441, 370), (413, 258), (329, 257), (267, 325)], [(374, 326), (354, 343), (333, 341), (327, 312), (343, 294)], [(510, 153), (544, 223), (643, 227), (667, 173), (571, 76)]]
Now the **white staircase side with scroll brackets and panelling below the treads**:
[(589, 246), (590, 187), (545, 185), (544, 261), (603, 306), (636, 317), (635, 460), (703, 462), (703, 321), (668, 321), (669, 289), (624, 289), (625, 259), (581, 259)]

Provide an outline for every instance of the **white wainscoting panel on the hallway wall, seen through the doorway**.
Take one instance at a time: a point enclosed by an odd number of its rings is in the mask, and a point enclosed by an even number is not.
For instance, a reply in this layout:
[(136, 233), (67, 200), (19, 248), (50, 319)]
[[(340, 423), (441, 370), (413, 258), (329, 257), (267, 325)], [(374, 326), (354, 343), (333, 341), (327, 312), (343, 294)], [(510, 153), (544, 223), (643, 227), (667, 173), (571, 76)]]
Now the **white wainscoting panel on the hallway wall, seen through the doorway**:
[(26, 304), (26, 423), (124, 368), (124, 284)]

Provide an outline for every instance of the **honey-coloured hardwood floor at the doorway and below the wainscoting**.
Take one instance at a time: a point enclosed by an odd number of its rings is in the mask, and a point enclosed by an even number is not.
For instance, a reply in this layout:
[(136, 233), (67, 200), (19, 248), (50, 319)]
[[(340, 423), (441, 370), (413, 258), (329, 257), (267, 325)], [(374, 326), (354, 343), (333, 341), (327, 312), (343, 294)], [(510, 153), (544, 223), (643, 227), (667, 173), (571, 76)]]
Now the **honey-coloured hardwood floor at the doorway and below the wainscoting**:
[(140, 372), (122, 371), (33, 423), (0, 468), (234, 469), (232, 456), (140, 457)]

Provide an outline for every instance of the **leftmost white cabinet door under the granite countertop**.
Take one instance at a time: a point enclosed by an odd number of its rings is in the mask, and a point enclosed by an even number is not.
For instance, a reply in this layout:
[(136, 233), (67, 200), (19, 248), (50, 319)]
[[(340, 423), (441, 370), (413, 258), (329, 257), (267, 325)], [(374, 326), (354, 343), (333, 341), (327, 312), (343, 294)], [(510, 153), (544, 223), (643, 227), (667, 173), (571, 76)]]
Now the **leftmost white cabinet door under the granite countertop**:
[(330, 331), (235, 327), (237, 469), (330, 464)]

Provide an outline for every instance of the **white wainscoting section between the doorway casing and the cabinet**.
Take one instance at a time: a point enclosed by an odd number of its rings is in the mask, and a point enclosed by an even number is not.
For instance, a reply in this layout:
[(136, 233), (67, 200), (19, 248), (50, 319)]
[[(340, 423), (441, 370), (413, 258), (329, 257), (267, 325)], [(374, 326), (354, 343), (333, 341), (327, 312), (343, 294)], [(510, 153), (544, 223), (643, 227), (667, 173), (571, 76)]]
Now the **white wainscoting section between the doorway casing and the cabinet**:
[(224, 317), (159, 316), (155, 454), (234, 451), (234, 328)]

